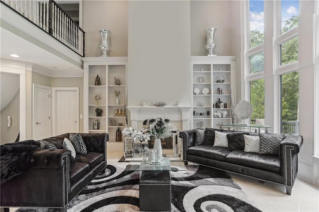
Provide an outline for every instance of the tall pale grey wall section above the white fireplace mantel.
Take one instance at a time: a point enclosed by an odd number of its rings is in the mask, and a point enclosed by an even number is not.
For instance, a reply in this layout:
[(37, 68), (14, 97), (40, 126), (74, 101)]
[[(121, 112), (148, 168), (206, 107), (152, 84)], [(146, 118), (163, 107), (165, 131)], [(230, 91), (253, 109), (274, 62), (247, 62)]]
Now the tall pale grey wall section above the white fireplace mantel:
[(128, 101), (191, 104), (189, 1), (129, 1)]

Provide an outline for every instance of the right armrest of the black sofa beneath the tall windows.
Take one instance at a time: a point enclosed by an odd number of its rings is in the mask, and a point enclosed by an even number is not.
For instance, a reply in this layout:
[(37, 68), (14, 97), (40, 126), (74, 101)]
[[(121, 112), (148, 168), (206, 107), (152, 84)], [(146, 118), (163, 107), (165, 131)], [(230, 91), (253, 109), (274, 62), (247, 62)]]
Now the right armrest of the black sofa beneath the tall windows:
[(303, 137), (288, 135), (280, 143), (280, 174), (285, 177), (285, 185), (293, 187), (298, 172), (298, 153), (303, 145)]

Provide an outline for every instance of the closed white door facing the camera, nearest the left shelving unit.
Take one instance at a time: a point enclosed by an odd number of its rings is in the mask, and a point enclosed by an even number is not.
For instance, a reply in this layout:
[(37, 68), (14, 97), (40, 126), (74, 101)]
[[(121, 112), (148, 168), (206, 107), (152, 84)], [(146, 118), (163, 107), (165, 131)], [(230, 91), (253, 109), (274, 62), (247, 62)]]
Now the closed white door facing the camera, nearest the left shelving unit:
[(60, 135), (67, 132), (79, 132), (79, 97), (78, 88), (54, 89), (54, 117), (53, 133)]

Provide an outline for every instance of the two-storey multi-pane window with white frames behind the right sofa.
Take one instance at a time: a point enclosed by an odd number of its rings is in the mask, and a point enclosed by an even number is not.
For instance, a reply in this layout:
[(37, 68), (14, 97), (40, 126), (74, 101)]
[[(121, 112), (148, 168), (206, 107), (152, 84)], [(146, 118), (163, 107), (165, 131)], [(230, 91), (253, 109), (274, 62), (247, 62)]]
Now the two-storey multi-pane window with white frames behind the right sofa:
[[(251, 119), (261, 124), (265, 120), (274, 132), (298, 133), (299, 0), (249, 0), (244, 5), (249, 35), (245, 37), (248, 70), (244, 77), (249, 95), (245, 99), (250, 98), (253, 106)], [(264, 31), (273, 34), (265, 37)], [(275, 105), (265, 108), (265, 102)]]

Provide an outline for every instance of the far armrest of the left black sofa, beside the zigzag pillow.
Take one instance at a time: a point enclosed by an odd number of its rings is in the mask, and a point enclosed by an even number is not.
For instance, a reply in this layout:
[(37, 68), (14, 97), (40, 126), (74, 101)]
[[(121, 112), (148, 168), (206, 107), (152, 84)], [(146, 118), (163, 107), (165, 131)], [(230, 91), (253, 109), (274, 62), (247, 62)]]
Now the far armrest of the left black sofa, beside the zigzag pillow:
[(88, 152), (100, 152), (104, 154), (106, 161), (106, 142), (109, 140), (108, 133), (79, 133), (84, 140)]

